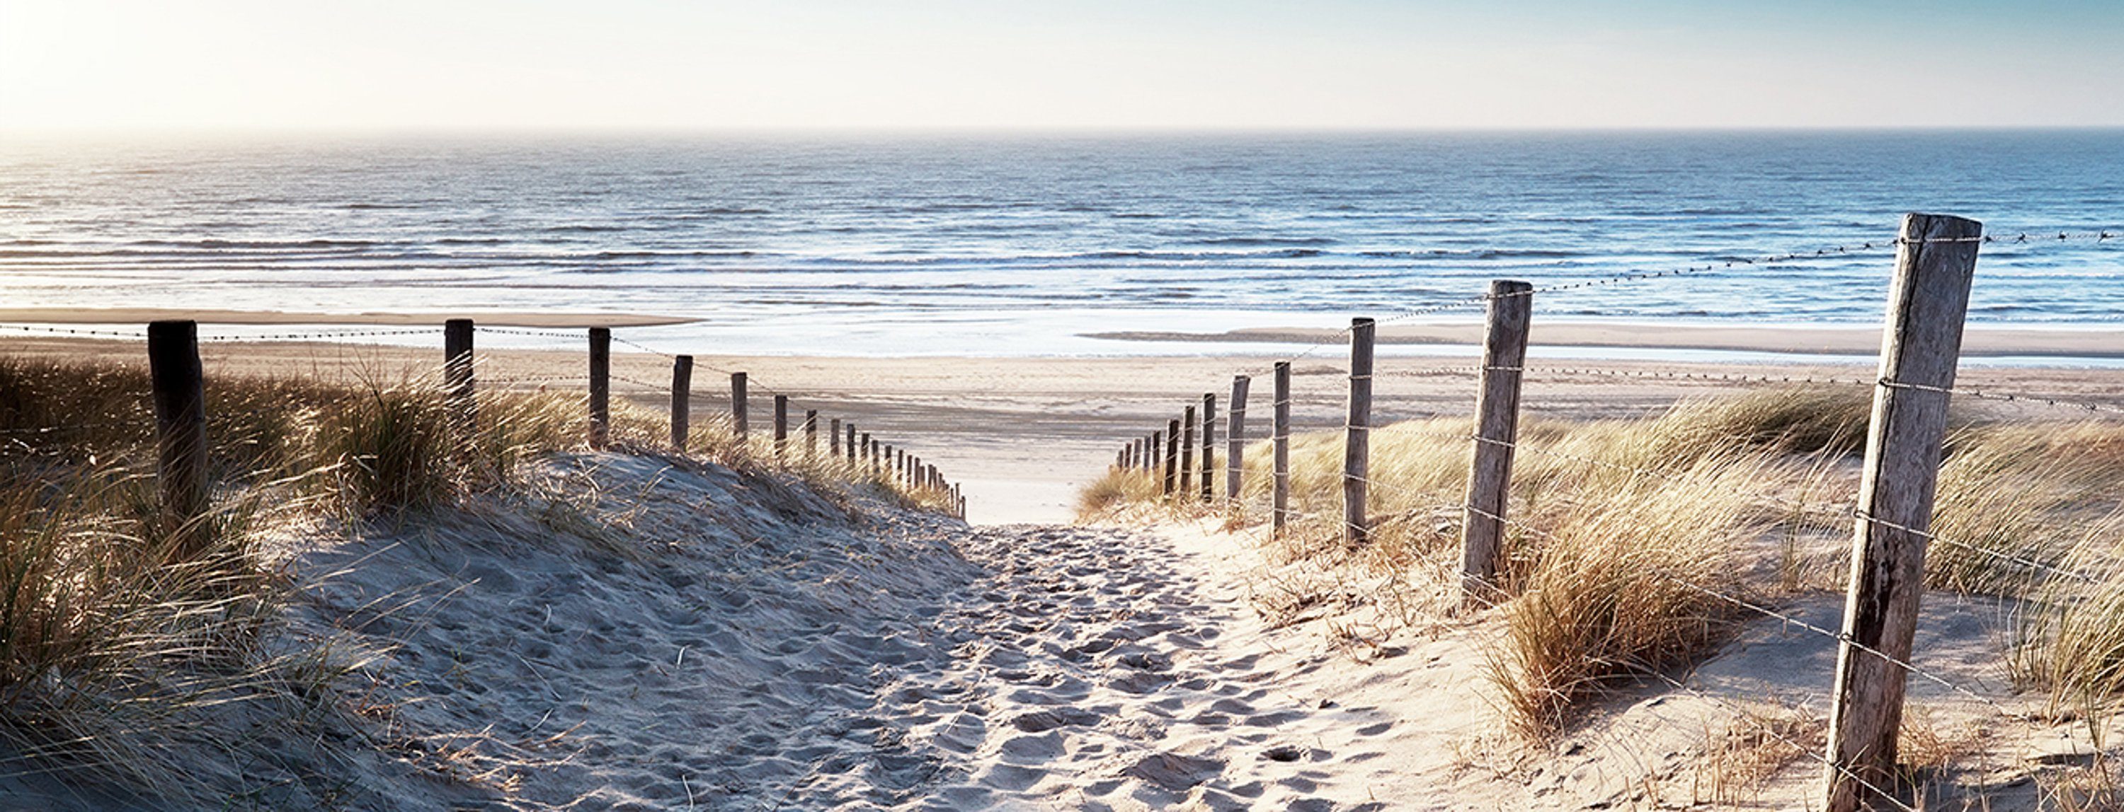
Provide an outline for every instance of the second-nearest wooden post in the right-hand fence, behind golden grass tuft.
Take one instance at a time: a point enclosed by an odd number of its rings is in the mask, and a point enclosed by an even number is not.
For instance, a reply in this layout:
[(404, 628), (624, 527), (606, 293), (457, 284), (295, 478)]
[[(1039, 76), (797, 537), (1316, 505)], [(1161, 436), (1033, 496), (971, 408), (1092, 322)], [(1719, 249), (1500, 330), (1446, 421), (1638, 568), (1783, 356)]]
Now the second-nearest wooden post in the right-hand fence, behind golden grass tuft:
[(1504, 549), (1504, 511), (1512, 492), (1519, 379), (1521, 367), (1527, 365), (1531, 320), (1531, 284), (1489, 282), (1483, 384), (1474, 396), (1474, 452), (1468, 462), (1468, 502), (1461, 517), (1461, 602), (1470, 606), (1497, 598), (1497, 551)]

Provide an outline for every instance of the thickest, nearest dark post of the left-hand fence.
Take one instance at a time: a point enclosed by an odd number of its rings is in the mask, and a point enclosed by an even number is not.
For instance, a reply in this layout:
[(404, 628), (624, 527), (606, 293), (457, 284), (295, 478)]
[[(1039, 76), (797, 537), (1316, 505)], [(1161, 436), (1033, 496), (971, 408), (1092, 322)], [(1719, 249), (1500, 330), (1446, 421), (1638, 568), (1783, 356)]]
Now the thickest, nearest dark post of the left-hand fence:
[(172, 530), (172, 553), (191, 560), (206, 534), (206, 373), (200, 367), (200, 322), (170, 320), (147, 326), (149, 384), (155, 399), (155, 479)]

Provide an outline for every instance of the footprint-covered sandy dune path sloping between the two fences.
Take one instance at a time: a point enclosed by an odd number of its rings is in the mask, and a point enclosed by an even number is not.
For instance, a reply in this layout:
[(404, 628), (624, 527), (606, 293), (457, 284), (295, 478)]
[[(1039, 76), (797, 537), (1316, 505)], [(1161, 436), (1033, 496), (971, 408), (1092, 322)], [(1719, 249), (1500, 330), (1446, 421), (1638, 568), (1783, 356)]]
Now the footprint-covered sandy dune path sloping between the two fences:
[[(1814, 744), (1827, 710), (1833, 642), (1776, 621), (1678, 674), (1689, 689), (1623, 687), (1523, 746), (1485, 676), (1493, 619), (1395, 617), (1361, 583), (1266, 564), (1255, 534), (969, 528), (620, 454), (554, 456), (531, 483), (287, 539), (302, 598), (280, 634), (361, 668), (340, 721), (238, 714), (221, 729), (240, 734), (202, 740), (189, 759), (221, 797), (13, 776), (0, 808), (1774, 810), (1816, 793), (1805, 751), (1746, 736), (1767, 719)], [(1257, 600), (1279, 589), (1300, 600)], [(1914, 685), (1916, 712), (1948, 738), (1986, 727), (1994, 753), (2082, 757), (2069, 723), (1999, 723), (2003, 617), (1929, 604), (1918, 664), (1986, 693)], [(1992, 810), (2028, 806), (2011, 757), (1950, 772)]]

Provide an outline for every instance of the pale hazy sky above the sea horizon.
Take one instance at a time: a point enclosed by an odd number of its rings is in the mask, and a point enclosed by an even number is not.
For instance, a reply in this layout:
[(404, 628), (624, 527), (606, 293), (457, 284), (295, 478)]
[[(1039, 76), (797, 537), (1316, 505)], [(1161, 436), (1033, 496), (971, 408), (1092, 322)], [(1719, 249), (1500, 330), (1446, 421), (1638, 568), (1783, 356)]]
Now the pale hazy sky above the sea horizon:
[(2124, 125), (2124, 0), (0, 0), (0, 129)]

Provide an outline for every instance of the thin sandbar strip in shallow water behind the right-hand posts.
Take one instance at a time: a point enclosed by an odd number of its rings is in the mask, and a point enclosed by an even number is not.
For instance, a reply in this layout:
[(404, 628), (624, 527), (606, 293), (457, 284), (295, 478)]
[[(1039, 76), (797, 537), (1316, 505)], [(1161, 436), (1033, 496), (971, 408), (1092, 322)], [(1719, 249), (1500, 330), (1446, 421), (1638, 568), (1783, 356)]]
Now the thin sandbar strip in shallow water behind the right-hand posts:
[[(1342, 331), (1255, 326), (1223, 333), (1107, 331), (1079, 335), (1109, 341), (1315, 343), (1338, 339)], [(1480, 341), (1483, 324), (1383, 324), (1378, 329), (1378, 343), (1478, 346)], [(1548, 322), (1534, 324), (1529, 341), (1553, 348), (1871, 356), (1880, 352), (1880, 329)], [(1971, 324), (1963, 335), (1963, 356), (2124, 358), (2124, 329), (2043, 331)]]

